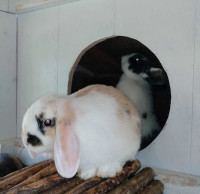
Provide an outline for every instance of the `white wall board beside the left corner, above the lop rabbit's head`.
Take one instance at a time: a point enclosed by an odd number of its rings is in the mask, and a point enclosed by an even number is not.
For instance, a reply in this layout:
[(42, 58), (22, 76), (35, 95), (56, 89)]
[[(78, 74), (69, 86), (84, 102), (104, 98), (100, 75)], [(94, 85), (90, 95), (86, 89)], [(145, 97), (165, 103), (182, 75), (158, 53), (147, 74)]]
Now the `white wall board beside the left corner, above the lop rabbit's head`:
[(25, 110), (38, 98), (57, 94), (58, 7), (18, 16), (18, 136)]

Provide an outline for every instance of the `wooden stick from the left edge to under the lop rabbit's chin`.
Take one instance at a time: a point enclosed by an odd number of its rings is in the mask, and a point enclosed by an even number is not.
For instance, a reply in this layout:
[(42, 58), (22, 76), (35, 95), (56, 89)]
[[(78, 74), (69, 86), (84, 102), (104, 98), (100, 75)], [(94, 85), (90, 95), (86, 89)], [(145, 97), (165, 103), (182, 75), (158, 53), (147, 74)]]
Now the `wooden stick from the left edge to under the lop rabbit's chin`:
[(33, 166), (26, 167), (25, 169), (21, 169), (18, 171), (18, 173), (14, 172), (13, 176), (11, 176), (11, 174), (12, 174), (11, 173), (8, 176), (8, 178), (6, 178), (0, 182), (0, 191), (7, 190), (7, 189), (17, 185), (18, 183), (26, 180), (28, 177), (37, 173), (38, 171), (45, 168), (46, 166), (48, 166), (51, 163), (52, 163), (52, 161), (48, 160), (48, 161), (41, 162), (41, 163), (33, 165)]

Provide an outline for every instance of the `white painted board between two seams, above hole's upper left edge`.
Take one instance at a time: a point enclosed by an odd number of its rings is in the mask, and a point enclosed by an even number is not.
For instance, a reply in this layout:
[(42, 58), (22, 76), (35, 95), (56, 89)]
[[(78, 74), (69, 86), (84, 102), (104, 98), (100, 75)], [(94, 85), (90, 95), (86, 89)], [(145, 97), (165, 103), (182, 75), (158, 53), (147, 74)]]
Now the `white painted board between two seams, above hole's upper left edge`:
[(66, 94), (69, 72), (83, 49), (114, 34), (113, 0), (85, 0), (59, 8), (58, 93)]

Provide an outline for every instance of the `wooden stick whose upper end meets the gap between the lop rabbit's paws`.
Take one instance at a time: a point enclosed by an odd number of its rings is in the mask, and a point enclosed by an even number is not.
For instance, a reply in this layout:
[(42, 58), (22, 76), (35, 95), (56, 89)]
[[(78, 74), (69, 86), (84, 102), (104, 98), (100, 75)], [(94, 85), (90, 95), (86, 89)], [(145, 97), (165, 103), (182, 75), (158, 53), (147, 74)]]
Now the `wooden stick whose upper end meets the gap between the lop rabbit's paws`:
[(84, 191), (98, 185), (99, 183), (101, 183), (104, 180), (105, 179), (100, 178), (100, 177), (93, 177), (93, 178), (83, 182), (82, 184), (78, 185), (74, 189), (70, 190), (69, 192), (67, 192), (67, 194), (81, 194)]

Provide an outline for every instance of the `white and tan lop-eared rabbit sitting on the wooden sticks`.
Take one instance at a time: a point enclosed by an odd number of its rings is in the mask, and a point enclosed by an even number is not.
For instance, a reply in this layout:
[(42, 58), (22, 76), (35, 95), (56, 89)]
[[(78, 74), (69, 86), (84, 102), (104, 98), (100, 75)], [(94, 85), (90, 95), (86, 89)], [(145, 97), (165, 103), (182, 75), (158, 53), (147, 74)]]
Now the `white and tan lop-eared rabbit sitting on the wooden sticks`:
[(88, 86), (65, 97), (44, 97), (25, 113), (22, 141), (32, 158), (52, 154), (63, 177), (112, 177), (140, 146), (140, 116), (114, 87)]

